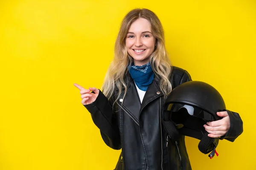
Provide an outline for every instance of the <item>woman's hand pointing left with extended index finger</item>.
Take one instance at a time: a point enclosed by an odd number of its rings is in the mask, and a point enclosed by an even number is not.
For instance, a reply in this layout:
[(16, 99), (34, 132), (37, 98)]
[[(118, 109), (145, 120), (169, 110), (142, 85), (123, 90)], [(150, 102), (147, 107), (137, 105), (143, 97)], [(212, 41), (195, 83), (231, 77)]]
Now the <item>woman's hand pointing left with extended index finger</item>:
[[(76, 83), (74, 84), (74, 86), (76, 86), (80, 90), (80, 94), (81, 94), (81, 98), (82, 98), (81, 103), (83, 105), (91, 104), (92, 102), (94, 102), (96, 100), (96, 98), (99, 95), (99, 89), (97, 89), (97, 88), (85, 89), (81, 85), (78, 85)], [(93, 91), (94, 93), (91, 93), (91, 91)]]

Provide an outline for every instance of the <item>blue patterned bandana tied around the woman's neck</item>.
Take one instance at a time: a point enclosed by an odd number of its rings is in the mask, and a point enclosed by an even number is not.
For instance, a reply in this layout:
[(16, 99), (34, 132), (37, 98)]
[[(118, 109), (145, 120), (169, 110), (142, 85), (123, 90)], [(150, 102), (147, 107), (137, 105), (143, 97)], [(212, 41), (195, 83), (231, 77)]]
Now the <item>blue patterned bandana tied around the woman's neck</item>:
[(142, 91), (147, 91), (148, 85), (150, 85), (154, 79), (154, 72), (149, 62), (142, 66), (132, 64), (128, 69), (138, 88)]

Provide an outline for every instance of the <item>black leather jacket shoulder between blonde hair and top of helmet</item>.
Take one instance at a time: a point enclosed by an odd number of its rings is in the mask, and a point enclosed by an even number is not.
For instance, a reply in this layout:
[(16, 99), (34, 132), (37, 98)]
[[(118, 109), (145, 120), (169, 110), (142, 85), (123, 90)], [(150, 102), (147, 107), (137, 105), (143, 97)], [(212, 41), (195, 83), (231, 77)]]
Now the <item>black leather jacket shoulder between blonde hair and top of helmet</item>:
[(192, 81), (192, 78), (188, 71), (183, 68), (172, 66), (172, 73), (169, 78), (172, 88), (175, 88), (177, 85), (182, 84), (183, 82)]

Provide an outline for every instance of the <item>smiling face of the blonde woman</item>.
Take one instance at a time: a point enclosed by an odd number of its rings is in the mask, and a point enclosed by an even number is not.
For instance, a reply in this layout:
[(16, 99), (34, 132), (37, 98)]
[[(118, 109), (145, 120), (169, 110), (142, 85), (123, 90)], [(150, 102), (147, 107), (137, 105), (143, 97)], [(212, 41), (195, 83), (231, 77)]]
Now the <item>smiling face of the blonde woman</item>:
[(126, 35), (125, 45), (134, 65), (145, 65), (154, 51), (156, 38), (151, 33), (151, 25), (145, 18), (134, 21)]

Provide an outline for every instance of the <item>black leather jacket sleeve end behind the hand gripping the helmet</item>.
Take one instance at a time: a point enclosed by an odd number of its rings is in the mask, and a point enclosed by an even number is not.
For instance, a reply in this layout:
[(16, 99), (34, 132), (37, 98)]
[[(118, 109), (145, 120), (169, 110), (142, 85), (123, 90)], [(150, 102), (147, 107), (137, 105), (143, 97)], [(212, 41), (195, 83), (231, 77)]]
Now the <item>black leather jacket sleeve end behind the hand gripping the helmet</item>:
[(220, 139), (234, 142), (235, 139), (243, 133), (243, 121), (238, 113), (227, 109), (224, 109), (223, 111), (227, 111), (227, 114), (230, 117), (230, 129), (227, 131), (226, 135), (222, 136)]

